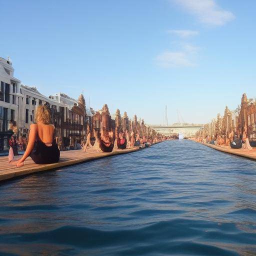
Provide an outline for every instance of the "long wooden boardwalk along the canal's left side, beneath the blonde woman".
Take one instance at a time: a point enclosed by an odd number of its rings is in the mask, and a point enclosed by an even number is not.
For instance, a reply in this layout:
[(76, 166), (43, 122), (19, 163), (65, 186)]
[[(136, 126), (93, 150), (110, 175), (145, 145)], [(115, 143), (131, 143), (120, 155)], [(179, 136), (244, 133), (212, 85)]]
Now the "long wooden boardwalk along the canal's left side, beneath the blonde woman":
[[(157, 144), (157, 143), (155, 143)], [(155, 145), (154, 144), (154, 145)], [(152, 145), (153, 146), (153, 145)], [(126, 149), (117, 149), (115, 151), (112, 151), (110, 153), (104, 153), (104, 152), (91, 152), (91, 153), (84, 153), (79, 150), (79, 152), (76, 152), (76, 150), (72, 151), (64, 151), (61, 152), (61, 155), (68, 155), (69, 159), (61, 159), (57, 163), (51, 163), (51, 164), (35, 164), (32, 162), (32, 160), (28, 160), (31, 163), (24, 164), (23, 167), (15, 168), (15, 167), (9, 167), (10, 165), (7, 165), (7, 163), (3, 164), (3, 167), (0, 167), (0, 182), (4, 182), (10, 179), (20, 178), (24, 177), (33, 173), (41, 172), (41, 171), (49, 171), (49, 170), (55, 170), (61, 167), (70, 166), (82, 162), (89, 162), (96, 159), (108, 157), (108, 156), (114, 156), (118, 154), (124, 154), (124, 153), (132, 153), (136, 151), (140, 151), (146, 147), (133, 147), (133, 148), (126, 148)], [(73, 154), (73, 155), (72, 155)], [(82, 157), (75, 157), (76, 155)], [(70, 158), (72, 157), (73, 158)], [(7, 157), (0, 157), (4, 158), (4, 162), (7, 162)], [(3, 160), (1, 162), (3, 162)], [(8, 166), (8, 168), (4, 168), (4, 166)]]

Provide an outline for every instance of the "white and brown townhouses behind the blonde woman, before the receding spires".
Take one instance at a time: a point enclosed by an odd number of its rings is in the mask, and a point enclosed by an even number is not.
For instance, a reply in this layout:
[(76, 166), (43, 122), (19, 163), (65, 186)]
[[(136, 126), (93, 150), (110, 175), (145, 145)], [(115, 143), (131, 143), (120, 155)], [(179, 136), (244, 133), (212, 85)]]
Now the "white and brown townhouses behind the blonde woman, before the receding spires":
[(0, 151), (8, 148), (8, 137), (13, 132), (17, 137), (27, 137), (36, 107), (45, 103), (51, 108), (57, 137), (67, 138), (70, 143), (70, 137), (86, 135), (86, 121), (92, 110), (85, 109), (83, 95), (78, 100), (61, 92), (47, 97), (36, 87), (21, 84), (13, 73), (10, 59), (0, 57)]

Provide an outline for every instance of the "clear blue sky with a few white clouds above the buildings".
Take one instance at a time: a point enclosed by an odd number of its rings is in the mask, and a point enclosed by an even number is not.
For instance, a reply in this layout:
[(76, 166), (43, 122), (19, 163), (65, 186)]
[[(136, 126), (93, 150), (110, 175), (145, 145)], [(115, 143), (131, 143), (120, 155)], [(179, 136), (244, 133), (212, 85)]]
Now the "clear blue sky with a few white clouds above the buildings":
[(46, 95), (147, 123), (207, 122), (256, 96), (254, 0), (0, 0), (0, 56)]

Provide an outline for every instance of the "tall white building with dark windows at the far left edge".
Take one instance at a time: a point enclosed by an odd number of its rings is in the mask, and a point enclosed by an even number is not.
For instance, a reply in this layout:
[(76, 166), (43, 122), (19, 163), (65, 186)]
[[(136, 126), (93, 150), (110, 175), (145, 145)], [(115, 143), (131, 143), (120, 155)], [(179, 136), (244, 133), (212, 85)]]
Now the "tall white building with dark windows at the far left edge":
[(7, 148), (7, 133), (18, 122), (20, 80), (13, 76), (9, 57), (0, 57), (0, 150)]

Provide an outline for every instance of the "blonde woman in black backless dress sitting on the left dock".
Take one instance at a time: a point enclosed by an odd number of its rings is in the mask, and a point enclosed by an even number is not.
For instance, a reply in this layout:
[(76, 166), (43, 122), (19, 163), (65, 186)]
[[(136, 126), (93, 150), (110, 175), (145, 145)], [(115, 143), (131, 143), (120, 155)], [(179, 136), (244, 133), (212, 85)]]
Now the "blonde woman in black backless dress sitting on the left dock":
[(30, 156), (35, 163), (47, 164), (59, 160), (59, 149), (54, 138), (55, 127), (50, 124), (50, 110), (46, 105), (39, 105), (35, 113), (36, 123), (30, 125), (28, 143), (23, 156), (13, 161), (17, 167), (24, 164)]

